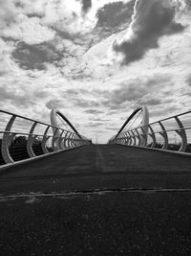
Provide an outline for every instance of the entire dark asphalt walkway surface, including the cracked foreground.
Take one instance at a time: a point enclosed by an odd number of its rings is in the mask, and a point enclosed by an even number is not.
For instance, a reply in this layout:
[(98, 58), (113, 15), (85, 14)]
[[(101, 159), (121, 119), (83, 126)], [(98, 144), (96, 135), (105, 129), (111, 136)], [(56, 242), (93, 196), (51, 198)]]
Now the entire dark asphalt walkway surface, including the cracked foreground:
[(119, 145), (0, 175), (1, 255), (190, 255), (191, 157)]

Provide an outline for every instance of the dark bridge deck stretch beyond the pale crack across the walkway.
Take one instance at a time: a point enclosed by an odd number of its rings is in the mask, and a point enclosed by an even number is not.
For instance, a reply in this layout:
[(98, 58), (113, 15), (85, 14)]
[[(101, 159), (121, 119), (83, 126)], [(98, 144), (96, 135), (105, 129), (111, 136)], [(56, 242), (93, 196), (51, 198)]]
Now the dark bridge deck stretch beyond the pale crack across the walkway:
[(123, 146), (83, 146), (11, 167), (0, 193), (189, 188), (191, 157)]

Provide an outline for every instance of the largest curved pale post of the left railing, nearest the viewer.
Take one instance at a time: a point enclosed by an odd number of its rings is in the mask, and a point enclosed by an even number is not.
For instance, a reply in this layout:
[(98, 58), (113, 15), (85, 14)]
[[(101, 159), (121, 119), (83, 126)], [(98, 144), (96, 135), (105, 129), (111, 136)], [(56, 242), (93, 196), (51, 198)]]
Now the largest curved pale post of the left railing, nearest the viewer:
[(3, 134), (3, 138), (2, 138), (1, 153), (6, 164), (10, 164), (14, 162), (13, 159), (11, 158), (9, 147), (11, 145), (12, 139), (15, 136), (15, 134), (13, 133), (11, 134), (11, 127), (15, 119), (16, 119), (16, 116), (12, 115), (7, 127), (5, 128), (5, 133)]

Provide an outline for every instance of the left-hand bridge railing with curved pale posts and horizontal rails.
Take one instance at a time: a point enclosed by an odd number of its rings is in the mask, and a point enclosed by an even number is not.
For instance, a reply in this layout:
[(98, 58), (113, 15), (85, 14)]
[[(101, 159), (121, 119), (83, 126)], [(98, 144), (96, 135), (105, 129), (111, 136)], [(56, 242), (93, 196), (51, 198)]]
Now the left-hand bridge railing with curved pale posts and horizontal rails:
[(78, 132), (0, 110), (0, 165), (90, 143)]

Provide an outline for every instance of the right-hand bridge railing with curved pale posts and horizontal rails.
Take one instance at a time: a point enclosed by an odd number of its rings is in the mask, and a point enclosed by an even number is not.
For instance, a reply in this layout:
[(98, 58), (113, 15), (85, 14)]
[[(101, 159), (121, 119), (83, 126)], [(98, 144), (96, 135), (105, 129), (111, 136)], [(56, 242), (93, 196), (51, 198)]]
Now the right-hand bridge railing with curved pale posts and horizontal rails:
[(123, 128), (108, 143), (191, 152), (191, 111), (137, 128)]

